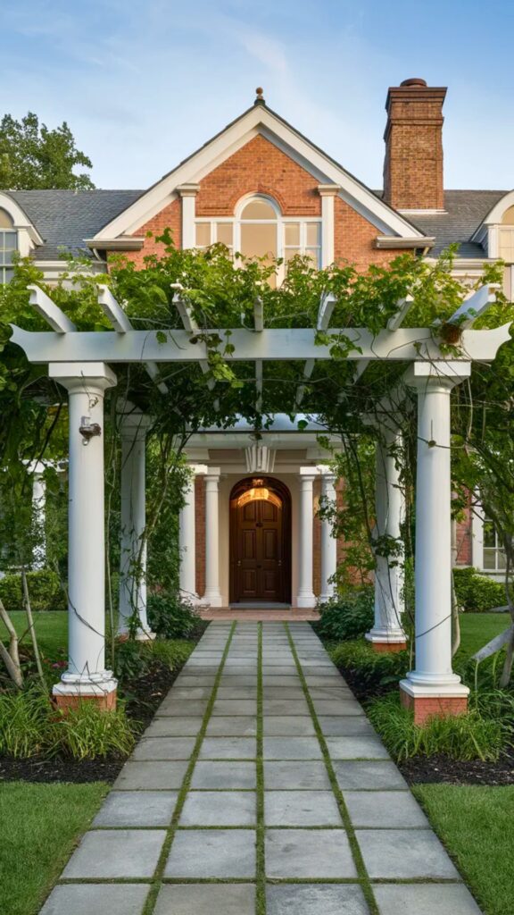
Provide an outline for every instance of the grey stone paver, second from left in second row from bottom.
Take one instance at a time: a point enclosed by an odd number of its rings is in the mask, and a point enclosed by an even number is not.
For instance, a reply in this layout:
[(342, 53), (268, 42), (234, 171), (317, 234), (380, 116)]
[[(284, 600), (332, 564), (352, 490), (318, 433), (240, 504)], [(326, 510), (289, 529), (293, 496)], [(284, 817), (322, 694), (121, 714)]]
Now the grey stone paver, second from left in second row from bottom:
[(254, 830), (178, 830), (165, 877), (255, 877)]

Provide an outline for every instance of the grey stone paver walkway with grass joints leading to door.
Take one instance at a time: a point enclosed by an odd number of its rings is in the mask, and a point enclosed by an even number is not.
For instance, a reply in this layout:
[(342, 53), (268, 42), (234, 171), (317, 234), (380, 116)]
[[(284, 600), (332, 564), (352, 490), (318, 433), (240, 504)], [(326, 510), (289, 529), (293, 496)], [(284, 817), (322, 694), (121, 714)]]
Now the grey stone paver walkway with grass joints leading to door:
[(211, 623), (41, 915), (480, 915), (307, 623)]

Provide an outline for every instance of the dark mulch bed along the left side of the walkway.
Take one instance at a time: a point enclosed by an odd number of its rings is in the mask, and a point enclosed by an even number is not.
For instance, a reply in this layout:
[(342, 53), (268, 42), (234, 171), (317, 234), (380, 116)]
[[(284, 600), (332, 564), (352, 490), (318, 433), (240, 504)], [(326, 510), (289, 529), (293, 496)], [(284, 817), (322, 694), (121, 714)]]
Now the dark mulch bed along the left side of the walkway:
[[(198, 638), (199, 635), (198, 633)], [(125, 684), (119, 695), (126, 702), (127, 715), (137, 722), (140, 732), (145, 730), (155, 716), (155, 711), (163, 701), (170, 687), (177, 680), (181, 668), (170, 671), (158, 667), (145, 676), (139, 676), (130, 684)], [(0, 781), (85, 781), (116, 780), (122, 769), (125, 757), (106, 757), (105, 759), (63, 759), (46, 756), (33, 756), (30, 759), (14, 759), (0, 756)]]

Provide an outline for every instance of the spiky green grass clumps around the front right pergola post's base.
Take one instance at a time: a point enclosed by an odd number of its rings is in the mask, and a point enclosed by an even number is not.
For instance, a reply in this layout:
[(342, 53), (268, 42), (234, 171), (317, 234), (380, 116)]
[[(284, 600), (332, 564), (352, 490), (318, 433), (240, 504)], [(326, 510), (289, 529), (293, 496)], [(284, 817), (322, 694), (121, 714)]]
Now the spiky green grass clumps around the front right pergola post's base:
[(498, 719), (481, 716), (477, 709), (465, 715), (432, 716), (415, 725), (412, 712), (391, 694), (369, 705), (368, 715), (391, 756), (398, 761), (413, 756), (444, 754), (450, 759), (496, 761), (511, 740), (511, 731)]

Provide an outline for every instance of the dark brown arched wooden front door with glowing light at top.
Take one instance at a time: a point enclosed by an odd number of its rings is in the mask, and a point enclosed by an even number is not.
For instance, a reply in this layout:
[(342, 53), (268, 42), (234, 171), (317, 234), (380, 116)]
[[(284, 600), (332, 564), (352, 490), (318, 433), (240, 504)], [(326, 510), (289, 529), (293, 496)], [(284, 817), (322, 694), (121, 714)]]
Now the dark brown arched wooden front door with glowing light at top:
[(230, 602), (291, 601), (291, 496), (250, 477), (230, 493)]

